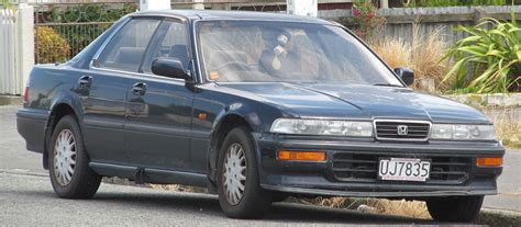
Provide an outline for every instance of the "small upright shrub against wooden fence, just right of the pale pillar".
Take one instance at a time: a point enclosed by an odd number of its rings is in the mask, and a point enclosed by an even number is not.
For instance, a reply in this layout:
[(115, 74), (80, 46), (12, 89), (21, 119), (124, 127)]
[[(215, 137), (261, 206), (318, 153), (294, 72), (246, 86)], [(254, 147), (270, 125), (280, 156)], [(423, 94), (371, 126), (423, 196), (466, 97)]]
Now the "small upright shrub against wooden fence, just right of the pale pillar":
[(375, 37), (378, 29), (385, 23), (384, 18), (376, 15), (377, 11), (376, 5), (367, 0), (356, 0), (353, 5), (354, 22), (358, 25), (354, 32), (367, 42)]

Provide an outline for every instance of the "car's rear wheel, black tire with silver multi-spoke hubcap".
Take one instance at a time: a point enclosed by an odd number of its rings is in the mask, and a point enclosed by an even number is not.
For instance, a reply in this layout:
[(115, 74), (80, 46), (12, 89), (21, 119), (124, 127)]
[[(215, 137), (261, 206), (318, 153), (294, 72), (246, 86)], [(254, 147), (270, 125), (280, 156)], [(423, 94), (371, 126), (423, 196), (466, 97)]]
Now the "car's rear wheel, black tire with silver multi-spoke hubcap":
[(75, 117), (62, 117), (51, 141), (48, 167), (54, 192), (64, 198), (92, 197), (100, 186), (101, 177), (89, 168), (89, 157)]

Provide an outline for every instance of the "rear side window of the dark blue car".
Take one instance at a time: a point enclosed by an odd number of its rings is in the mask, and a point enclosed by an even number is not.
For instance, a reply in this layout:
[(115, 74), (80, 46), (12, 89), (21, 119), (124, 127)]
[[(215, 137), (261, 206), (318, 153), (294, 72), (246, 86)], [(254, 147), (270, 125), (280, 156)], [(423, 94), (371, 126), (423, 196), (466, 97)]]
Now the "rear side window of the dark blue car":
[(126, 23), (99, 56), (99, 67), (136, 72), (159, 22), (156, 19), (133, 19)]

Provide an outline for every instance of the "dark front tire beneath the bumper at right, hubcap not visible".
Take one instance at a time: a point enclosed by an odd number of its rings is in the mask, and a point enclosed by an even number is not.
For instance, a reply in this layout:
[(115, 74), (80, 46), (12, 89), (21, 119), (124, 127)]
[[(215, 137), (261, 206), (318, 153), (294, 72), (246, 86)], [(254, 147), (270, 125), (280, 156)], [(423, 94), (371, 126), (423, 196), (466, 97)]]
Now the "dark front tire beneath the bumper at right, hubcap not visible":
[(435, 220), (470, 223), (481, 209), (483, 198), (483, 195), (432, 197), (426, 201), (426, 207)]

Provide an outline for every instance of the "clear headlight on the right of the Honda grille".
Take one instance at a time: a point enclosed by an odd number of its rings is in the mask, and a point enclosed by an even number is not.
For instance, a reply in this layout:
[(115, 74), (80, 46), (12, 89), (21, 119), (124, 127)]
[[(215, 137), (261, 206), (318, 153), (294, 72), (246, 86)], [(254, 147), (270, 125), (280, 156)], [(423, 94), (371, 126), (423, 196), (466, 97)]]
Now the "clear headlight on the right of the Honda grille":
[(432, 139), (496, 140), (494, 125), (450, 125), (433, 124)]

